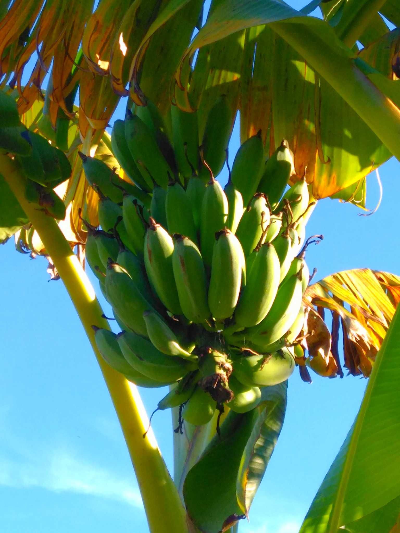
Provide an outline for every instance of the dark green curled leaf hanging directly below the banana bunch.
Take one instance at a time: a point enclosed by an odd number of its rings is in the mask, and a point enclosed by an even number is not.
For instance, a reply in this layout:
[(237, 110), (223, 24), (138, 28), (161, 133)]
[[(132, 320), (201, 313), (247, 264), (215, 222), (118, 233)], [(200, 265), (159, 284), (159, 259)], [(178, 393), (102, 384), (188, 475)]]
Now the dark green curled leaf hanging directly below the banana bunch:
[(286, 392), (287, 382), (265, 387), (261, 407), (241, 415), (230, 411), (221, 436), (188, 472), (183, 497), (202, 533), (226, 531), (249, 512), (281, 432)]

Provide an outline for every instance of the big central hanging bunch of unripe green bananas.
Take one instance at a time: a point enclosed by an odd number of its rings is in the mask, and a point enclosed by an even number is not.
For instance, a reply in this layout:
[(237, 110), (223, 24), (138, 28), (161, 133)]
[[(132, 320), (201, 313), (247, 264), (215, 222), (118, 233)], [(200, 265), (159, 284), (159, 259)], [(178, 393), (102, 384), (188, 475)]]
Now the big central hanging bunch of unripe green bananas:
[[(225, 97), (202, 139), (196, 112), (170, 122), (148, 102), (115, 122), (114, 154), (132, 184), (83, 156), (99, 193), (101, 229), (87, 225), (86, 259), (122, 332), (94, 326), (103, 358), (146, 387), (175, 387), (158, 409), (206, 424), (223, 405), (245, 413), (260, 387), (287, 379), (309, 282), (305, 179), (284, 193), (293, 155), (283, 141), (265, 163), (260, 133), (221, 172), (232, 118)], [(200, 148), (199, 148), (200, 145)]]

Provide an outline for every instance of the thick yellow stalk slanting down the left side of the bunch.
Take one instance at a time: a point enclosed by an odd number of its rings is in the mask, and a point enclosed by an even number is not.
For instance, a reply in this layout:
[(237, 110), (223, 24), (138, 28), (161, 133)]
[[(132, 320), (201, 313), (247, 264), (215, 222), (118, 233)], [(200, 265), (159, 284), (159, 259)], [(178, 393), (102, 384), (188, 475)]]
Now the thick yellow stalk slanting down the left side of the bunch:
[(18, 163), (0, 155), (0, 168), (51, 256), (92, 345), (122, 427), (151, 533), (188, 533), (186, 512), (154, 434), (149, 432), (143, 439), (148, 418), (139, 392), (122, 374), (109, 367), (97, 350), (91, 326), (109, 328), (109, 325), (102, 318), (102, 309), (85, 271), (57, 222), (25, 199), (25, 178)]

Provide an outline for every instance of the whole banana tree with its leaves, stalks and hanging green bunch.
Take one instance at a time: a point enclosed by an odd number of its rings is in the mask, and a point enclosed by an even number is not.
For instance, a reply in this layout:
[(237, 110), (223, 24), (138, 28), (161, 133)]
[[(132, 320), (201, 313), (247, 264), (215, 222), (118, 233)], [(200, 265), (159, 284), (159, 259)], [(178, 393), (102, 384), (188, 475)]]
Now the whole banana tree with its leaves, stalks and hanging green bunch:
[[(378, 352), (400, 279), (356, 270), (307, 288), (303, 233), (323, 198), (365, 209), (366, 175), (400, 156), (400, 11), (383, 0), (311, 2), (301, 11), (277, 0), (217, 0), (203, 23), (206, 6), (197, 0), (125, 0), (118, 10), (106, 0), (93, 13), (90, 2), (42, 4), (0, 7), (1, 237), (46, 256), (65, 284), (121, 423), (150, 530), (237, 531), (281, 431), (294, 366), (305, 381), (308, 368), (342, 376), (341, 326), (344, 366), (371, 376), (369, 405), (391, 360), (389, 341)], [(319, 4), (322, 19), (307, 16)], [(105, 129), (121, 97), (126, 118), (110, 137)], [(237, 110), (242, 146), (224, 192), (214, 176)], [(173, 264), (164, 261), (167, 247)], [(139, 259), (122, 264), (113, 254), (123, 252)], [(83, 270), (85, 254), (125, 330), (118, 340)], [(130, 292), (141, 303), (121, 306)], [(178, 430), (173, 481), (153, 437), (142, 438), (147, 419), (132, 382), (175, 386), (159, 404), (173, 408)], [(364, 526), (355, 522), (377, 511), (394, 526), (395, 482), (364, 512), (354, 502), (357, 512), (342, 511), (361, 431), (357, 421), (338, 456), (344, 477), (332, 467), (337, 492), (327, 477), (304, 531), (358, 531)], [(332, 491), (332, 508), (321, 511), (318, 502)]]

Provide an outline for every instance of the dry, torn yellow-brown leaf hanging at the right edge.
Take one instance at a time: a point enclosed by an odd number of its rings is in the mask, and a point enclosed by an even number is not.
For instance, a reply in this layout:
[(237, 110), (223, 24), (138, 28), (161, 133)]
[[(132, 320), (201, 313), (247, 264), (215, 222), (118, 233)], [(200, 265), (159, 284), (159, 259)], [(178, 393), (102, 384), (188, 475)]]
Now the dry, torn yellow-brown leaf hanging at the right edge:
[[(302, 333), (310, 356), (323, 357), (325, 368), (332, 356), (338, 366), (335, 373), (342, 376), (338, 356), (341, 326), (348, 374), (369, 376), (400, 301), (400, 276), (370, 269), (337, 272), (310, 285), (304, 301), (316, 308), (309, 313)], [(330, 340), (323, 324), (325, 310), (332, 313)]]

